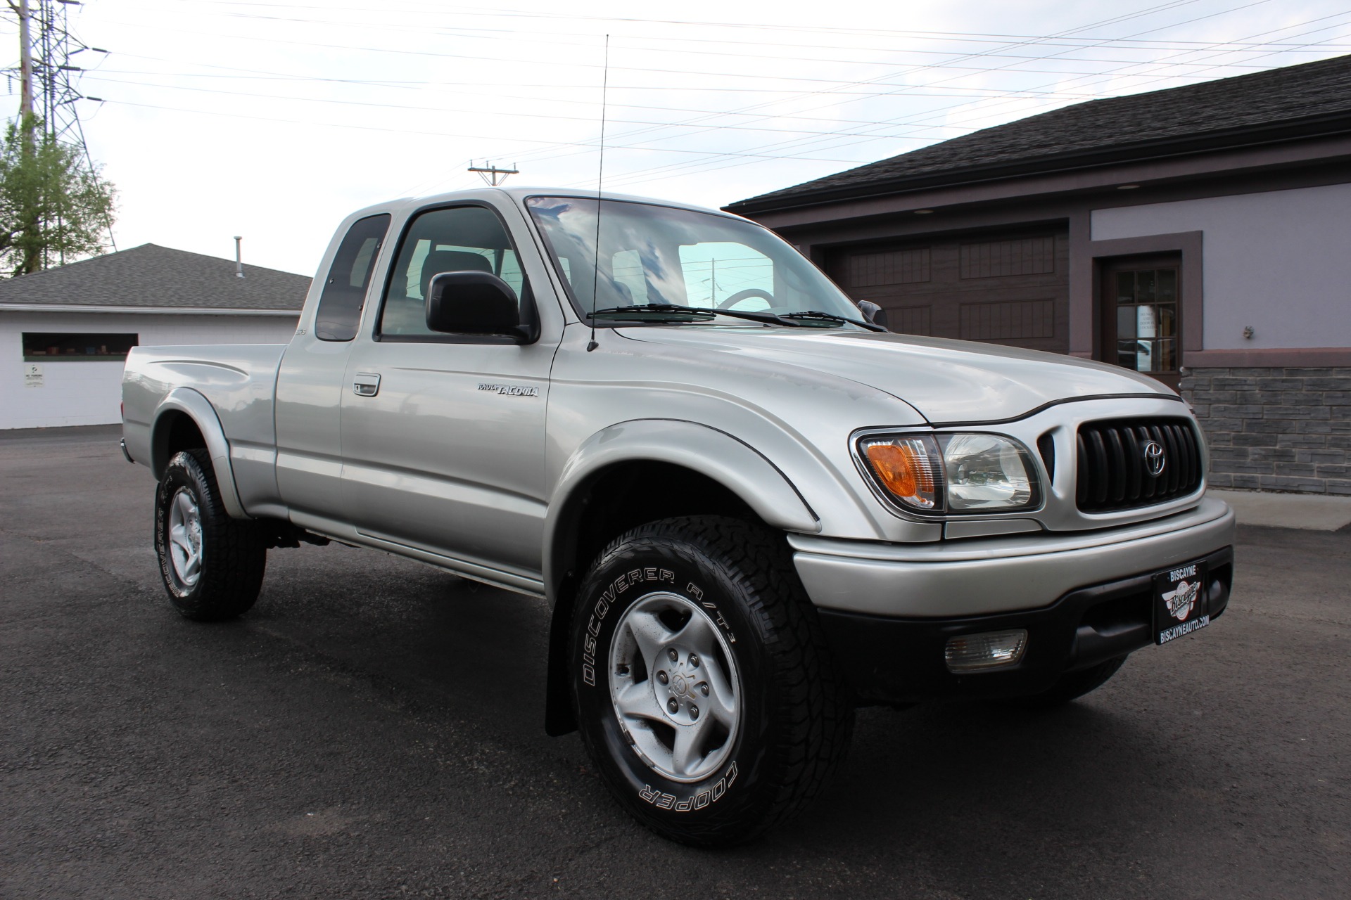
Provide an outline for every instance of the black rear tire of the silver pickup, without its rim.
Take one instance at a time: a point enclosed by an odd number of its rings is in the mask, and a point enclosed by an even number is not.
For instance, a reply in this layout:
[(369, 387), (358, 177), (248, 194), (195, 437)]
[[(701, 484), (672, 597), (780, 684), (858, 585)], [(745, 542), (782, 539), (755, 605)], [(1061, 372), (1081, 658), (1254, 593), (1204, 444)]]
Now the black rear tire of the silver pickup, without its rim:
[[(180, 493), (185, 495), (178, 499)], [(170, 521), (173, 505), (190, 502), (200, 522), (196, 576), (176, 568)], [(176, 453), (155, 490), (155, 555), (159, 576), (174, 609), (196, 622), (232, 619), (258, 599), (267, 545), (258, 526), (230, 518), (220, 502), (207, 451)]]

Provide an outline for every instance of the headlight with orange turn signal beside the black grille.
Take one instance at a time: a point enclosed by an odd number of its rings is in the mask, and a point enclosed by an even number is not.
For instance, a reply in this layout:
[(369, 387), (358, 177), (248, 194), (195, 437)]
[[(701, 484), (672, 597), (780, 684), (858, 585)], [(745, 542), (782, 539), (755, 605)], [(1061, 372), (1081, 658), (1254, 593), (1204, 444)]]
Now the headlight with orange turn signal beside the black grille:
[(1032, 456), (1011, 437), (870, 436), (858, 447), (885, 494), (916, 513), (1002, 513), (1042, 502)]

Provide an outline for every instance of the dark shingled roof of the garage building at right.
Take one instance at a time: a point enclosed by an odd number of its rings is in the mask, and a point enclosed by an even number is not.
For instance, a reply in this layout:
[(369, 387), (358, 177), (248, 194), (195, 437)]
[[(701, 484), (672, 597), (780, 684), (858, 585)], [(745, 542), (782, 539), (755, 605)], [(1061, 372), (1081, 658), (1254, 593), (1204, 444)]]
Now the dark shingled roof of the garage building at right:
[(1351, 131), (1351, 55), (1090, 100), (742, 200), (748, 215), (898, 190)]

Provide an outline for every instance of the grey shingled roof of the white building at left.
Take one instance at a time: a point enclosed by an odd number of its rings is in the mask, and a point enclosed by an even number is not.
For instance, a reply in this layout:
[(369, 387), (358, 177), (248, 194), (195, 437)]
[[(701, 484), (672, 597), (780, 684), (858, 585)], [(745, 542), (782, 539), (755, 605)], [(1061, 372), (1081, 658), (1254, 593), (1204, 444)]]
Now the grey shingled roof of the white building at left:
[(262, 266), (235, 275), (230, 259), (142, 244), (0, 281), (8, 305), (295, 310), (311, 279)]

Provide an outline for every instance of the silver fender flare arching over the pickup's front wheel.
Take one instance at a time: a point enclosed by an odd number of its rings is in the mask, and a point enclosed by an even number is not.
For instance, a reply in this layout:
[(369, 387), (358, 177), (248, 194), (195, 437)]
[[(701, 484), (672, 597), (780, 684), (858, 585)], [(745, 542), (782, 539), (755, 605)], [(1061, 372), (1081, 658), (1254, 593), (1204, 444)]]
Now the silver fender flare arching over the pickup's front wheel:
[(578, 501), (601, 472), (619, 463), (650, 460), (707, 475), (739, 497), (769, 526), (816, 534), (820, 518), (788, 476), (763, 453), (738, 437), (700, 422), (639, 418), (592, 434), (563, 466), (544, 518), (544, 590), (557, 602), (566, 575), (571, 522)]

